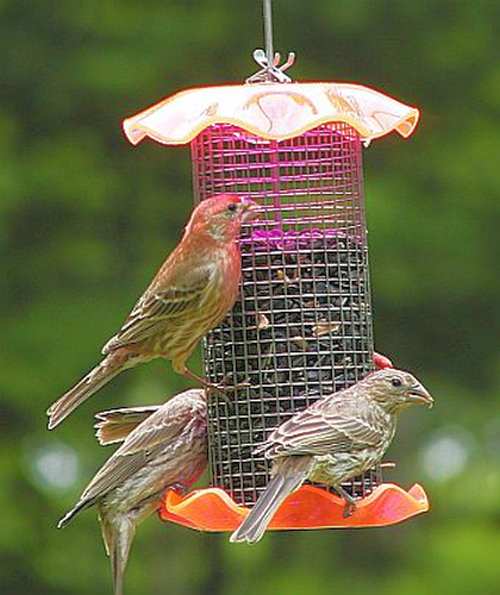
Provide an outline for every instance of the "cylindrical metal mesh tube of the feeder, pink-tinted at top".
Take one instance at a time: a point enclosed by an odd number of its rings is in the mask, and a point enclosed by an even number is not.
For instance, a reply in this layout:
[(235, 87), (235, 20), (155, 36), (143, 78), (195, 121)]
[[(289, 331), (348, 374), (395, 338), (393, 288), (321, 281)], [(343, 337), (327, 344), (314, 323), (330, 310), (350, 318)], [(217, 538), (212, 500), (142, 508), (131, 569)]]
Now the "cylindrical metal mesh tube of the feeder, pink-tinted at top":
[[(263, 207), (242, 233), (240, 299), (204, 344), (210, 381), (240, 385), (209, 405), (212, 484), (252, 506), (269, 479), (254, 447), (372, 369), (361, 142), (342, 123), (279, 142), (216, 125), (191, 149), (197, 200), (233, 192)], [(344, 487), (361, 497), (380, 481), (377, 469)]]

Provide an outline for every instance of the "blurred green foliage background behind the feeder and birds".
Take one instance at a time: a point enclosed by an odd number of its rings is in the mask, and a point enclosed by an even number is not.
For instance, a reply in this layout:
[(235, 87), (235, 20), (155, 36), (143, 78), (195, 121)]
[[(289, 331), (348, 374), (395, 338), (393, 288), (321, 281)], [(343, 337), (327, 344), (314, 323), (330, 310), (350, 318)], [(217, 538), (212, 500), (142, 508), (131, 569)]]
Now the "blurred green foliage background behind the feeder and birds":
[[(500, 4), (275, 0), (299, 80), (355, 81), (422, 110), (365, 151), (378, 349), (436, 397), (402, 420), (388, 479), (432, 512), (401, 526), (272, 534), (258, 547), (139, 530), (128, 593), (500, 592)], [(186, 386), (154, 363), (49, 434), (45, 409), (98, 358), (177, 242), (189, 151), (132, 148), (121, 120), (179, 89), (241, 81), (260, 2), (0, 2), (0, 591), (110, 592), (95, 515), (55, 522), (109, 452), (99, 408)]]

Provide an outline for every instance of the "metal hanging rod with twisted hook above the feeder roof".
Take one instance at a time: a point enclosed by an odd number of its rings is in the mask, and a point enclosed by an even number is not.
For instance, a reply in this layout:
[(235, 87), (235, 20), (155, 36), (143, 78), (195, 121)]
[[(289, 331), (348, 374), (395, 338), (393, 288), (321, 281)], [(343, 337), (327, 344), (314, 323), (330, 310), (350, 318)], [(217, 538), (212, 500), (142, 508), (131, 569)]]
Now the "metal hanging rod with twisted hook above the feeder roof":
[(253, 59), (261, 67), (255, 74), (246, 79), (247, 83), (291, 83), (292, 79), (285, 74), (295, 62), (294, 52), (288, 54), (284, 64), (279, 66), (281, 55), (273, 49), (273, 17), (271, 0), (263, 0), (264, 41), (266, 49), (256, 49)]

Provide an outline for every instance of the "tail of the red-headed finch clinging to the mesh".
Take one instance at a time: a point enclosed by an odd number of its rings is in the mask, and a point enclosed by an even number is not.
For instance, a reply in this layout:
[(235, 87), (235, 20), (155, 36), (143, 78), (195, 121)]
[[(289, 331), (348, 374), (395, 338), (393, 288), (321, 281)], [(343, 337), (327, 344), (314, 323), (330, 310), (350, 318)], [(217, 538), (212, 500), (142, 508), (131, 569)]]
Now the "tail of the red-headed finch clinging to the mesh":
[[(117, 357), (118, 356), (118, 357)], [(129, 356), (112, 353), (105, 357), (100, 364), (91, 370), (73, 388), (70, 388), (60, 399), (52, 403), (47, 410), (49, 416), (49, 430), (58, 426), (79, 405), (101, 389), (112, 378), (126, 367)]]

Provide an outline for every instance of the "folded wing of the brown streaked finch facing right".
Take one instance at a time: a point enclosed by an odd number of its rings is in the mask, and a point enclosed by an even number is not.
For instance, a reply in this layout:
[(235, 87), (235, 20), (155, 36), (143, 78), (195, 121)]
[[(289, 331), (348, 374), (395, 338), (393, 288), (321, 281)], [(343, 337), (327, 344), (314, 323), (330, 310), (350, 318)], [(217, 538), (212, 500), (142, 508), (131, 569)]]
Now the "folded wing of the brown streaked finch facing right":
[(328, 407), (322, 400), (281, 424), (259, 450), (269, 458), (335, 454), (375, 446), (383, 436), (383, 424), (359, 400), (330, 400)]

